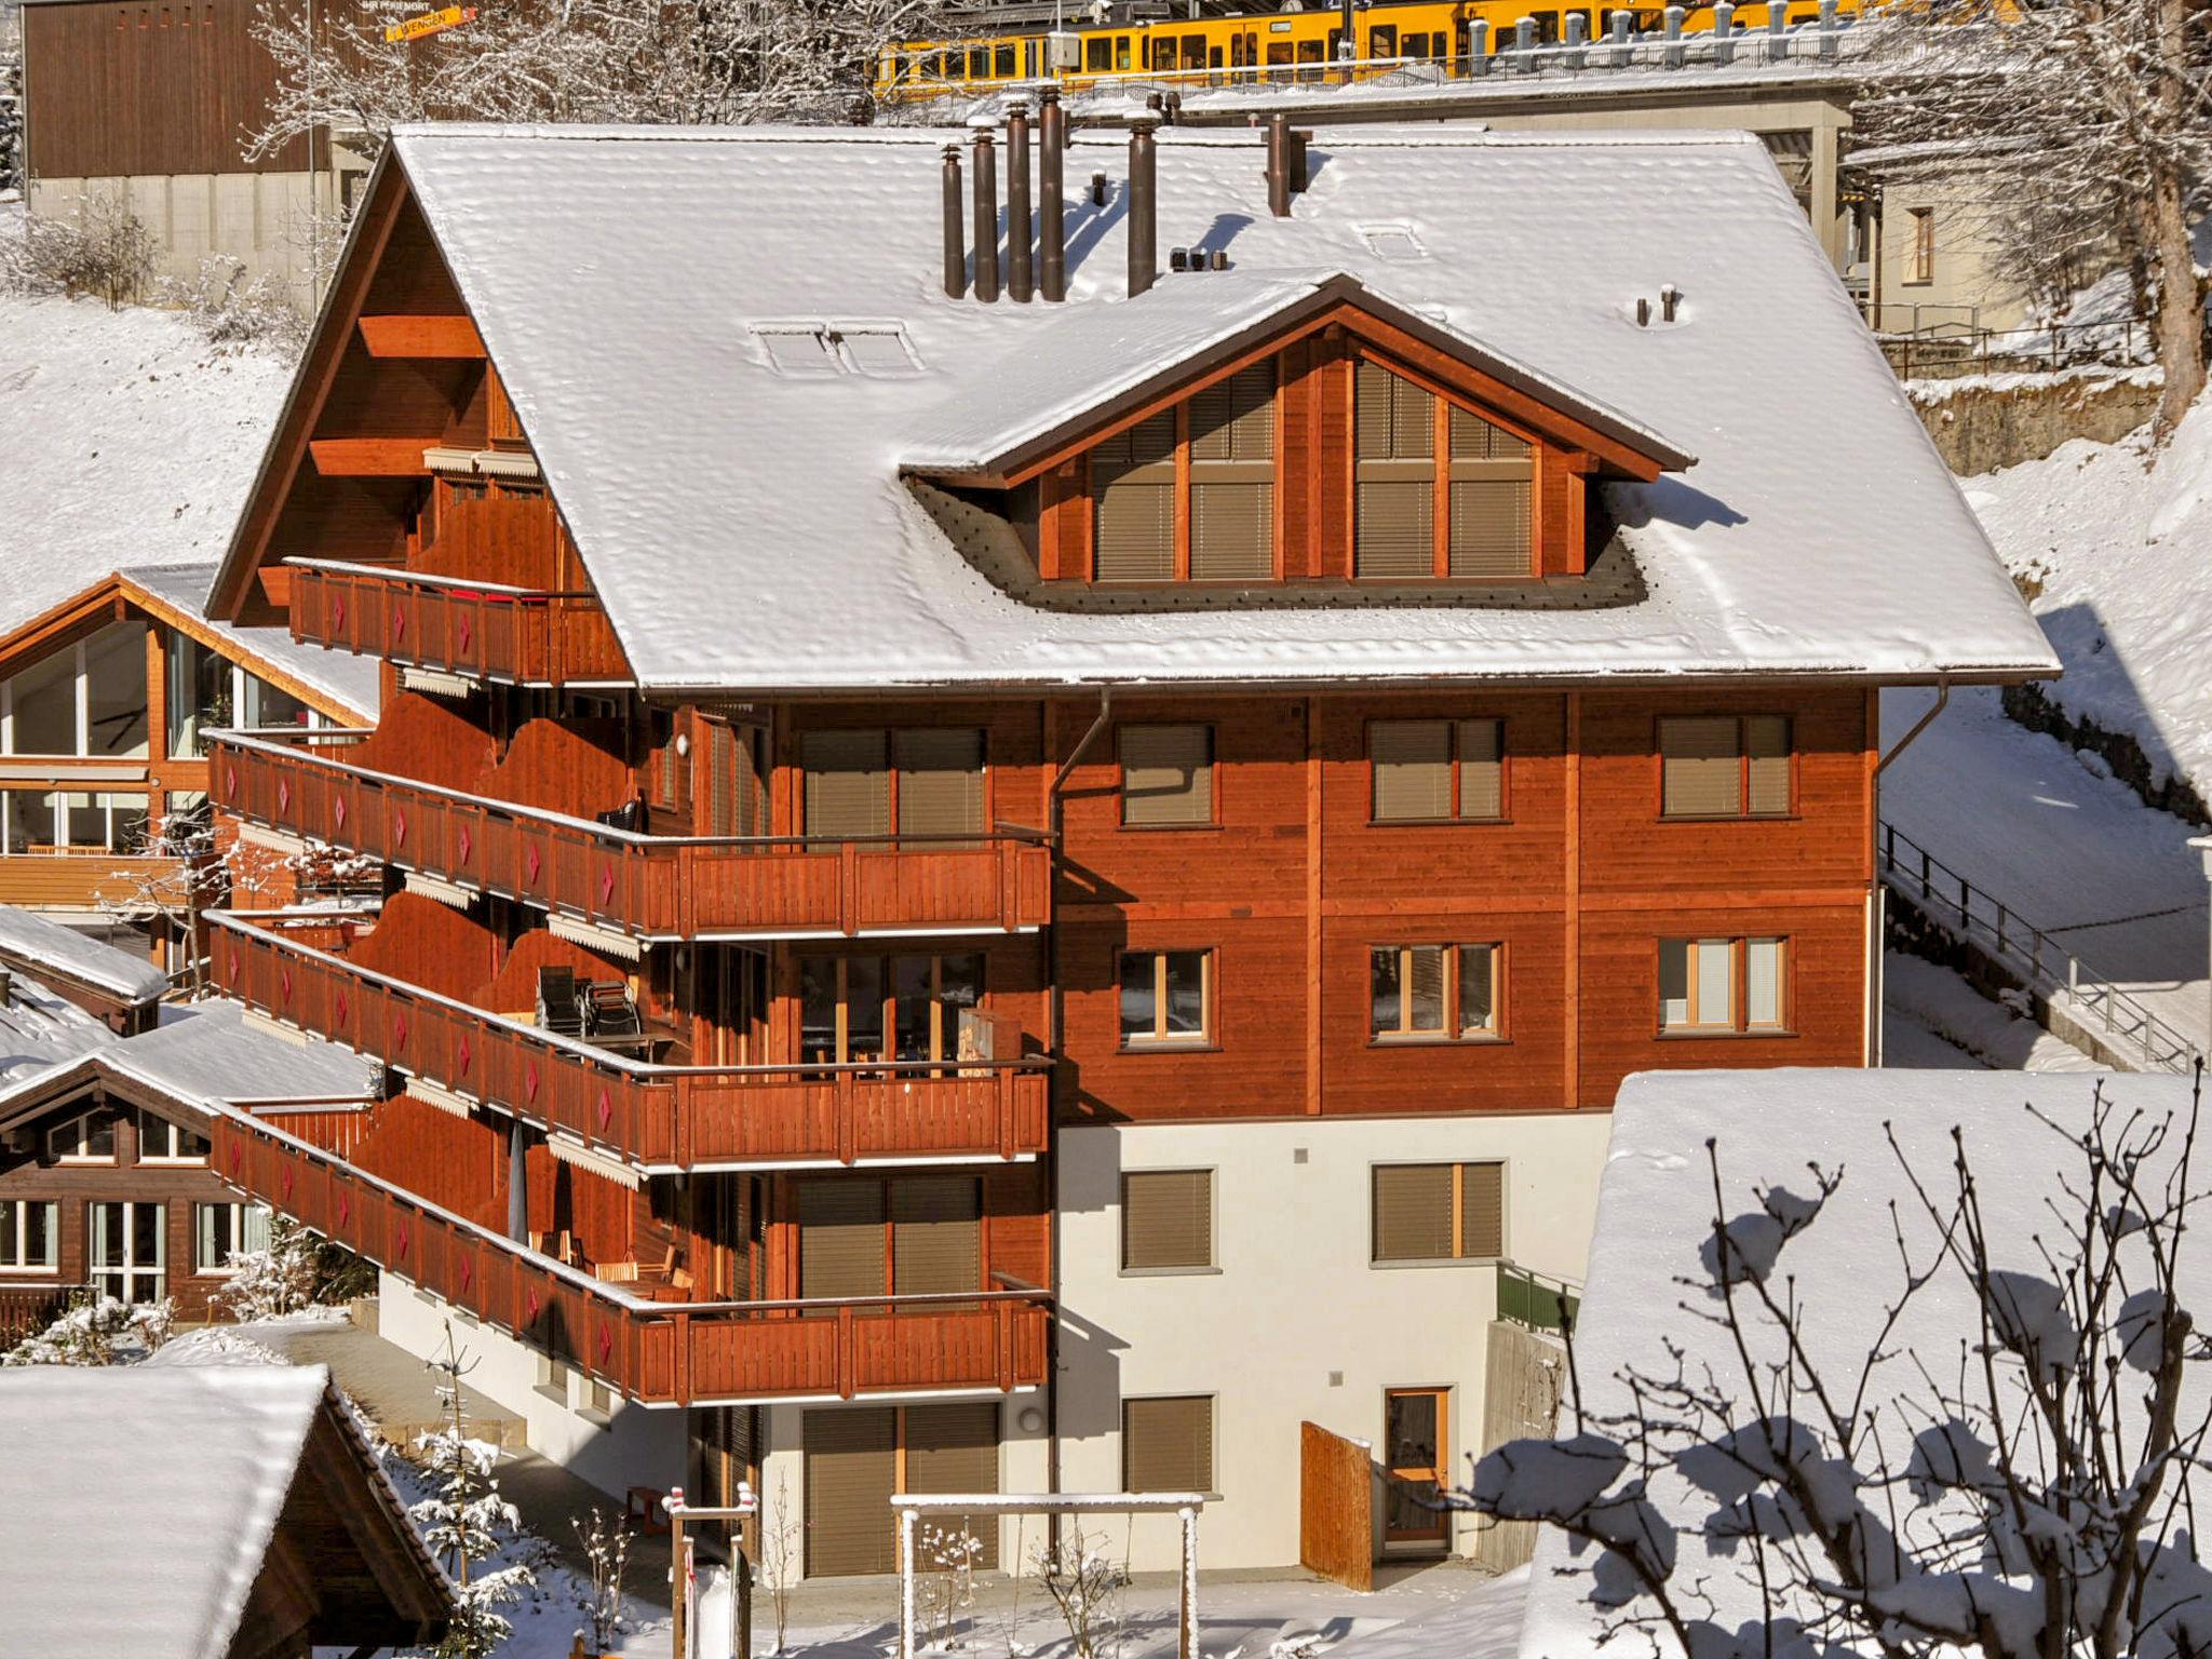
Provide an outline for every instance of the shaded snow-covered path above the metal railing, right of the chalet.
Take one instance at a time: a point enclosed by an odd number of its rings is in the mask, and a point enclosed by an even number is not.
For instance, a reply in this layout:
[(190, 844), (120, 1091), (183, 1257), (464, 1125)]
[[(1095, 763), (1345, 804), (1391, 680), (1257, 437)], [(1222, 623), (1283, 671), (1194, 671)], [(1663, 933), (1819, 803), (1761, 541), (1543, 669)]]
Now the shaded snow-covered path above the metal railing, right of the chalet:
[[(1882, 745), (1936, 692), (1882, 692)], [(2197, 1042), (2212, 1037), (2194, 830), (1969, 688), (1882, 774), (1882, 816)]]

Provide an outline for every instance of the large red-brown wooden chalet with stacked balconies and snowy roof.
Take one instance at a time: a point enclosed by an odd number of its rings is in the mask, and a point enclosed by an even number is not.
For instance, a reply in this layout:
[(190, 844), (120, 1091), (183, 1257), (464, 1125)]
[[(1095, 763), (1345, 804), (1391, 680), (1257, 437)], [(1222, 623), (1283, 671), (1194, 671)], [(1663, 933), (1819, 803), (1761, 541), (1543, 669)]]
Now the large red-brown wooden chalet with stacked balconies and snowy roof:
[(805, 1573), (1301, 1420), (1464, 1546), (1621, 1077), (1878, 1053), (1878, 688), (2055, 661), (1754, 139), (1060, 117), (396, 137), (210, 597), (383, 666), (212, 967), (396, 1093), (215, 1166)]

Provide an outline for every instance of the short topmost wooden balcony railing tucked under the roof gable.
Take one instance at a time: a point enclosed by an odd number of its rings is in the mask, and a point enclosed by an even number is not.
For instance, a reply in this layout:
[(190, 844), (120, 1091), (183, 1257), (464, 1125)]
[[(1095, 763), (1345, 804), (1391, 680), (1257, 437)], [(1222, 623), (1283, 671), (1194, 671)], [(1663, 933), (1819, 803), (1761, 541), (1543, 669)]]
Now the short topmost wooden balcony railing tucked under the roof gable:
[(511, 588), (374, 564), (292, 560), (292, 637), (473, 679), (626, 686), (606, 608), (591, 593)]

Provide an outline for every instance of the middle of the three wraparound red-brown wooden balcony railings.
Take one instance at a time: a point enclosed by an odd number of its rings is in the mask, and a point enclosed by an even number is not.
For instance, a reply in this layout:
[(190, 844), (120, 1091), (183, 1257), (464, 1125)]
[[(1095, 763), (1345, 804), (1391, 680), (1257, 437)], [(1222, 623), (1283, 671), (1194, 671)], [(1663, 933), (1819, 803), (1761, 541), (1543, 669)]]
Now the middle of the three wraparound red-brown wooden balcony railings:
[(635, 1170), (1029, 1159), (1051, 1062), (655, 1066), (347, 962), (327, 911), (221, 914), (215, 989), (420, 1079), (440, 1097), (562, 1133)]

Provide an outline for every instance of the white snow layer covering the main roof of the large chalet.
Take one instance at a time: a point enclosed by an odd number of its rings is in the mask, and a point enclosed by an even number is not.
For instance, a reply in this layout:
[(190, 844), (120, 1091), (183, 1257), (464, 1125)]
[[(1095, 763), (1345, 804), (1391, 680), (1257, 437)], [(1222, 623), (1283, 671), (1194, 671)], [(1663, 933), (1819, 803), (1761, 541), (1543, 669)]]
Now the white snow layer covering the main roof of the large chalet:
[[(641, 681), (657, 690), (2048, 672), (2053, 657), (1743, 135), (1321, 133), (1272, 219), (1259, 137), (1159, 142), (1159, 248), (1336, 270), (1699, 460), (1610, 487), (1648, 597), (1082, 615), (982, 577), (898, 478), (1124, 294), (1126, 144), (1068, 148), (1068, 303), (938, 288), (920, 131), (405, 128), (394, 144)], [(1088, 201), (1108, 175), (1106, 206)], [(1376, 223), (1422, 254), (1378, 252)], [(1663, 283), (1681, 321), (1637, 327)], [(1126, 321), (1119, 321), (1126, 319)], [(781, 374), (757, 327), (896, 321), (918, 369)], [(1082, 323), (1079, 327), (1093, 327)], [(1135, 347), (1130, 347), (1135, 349)]]

